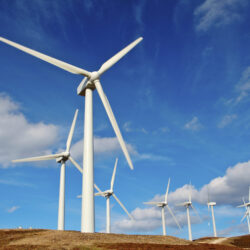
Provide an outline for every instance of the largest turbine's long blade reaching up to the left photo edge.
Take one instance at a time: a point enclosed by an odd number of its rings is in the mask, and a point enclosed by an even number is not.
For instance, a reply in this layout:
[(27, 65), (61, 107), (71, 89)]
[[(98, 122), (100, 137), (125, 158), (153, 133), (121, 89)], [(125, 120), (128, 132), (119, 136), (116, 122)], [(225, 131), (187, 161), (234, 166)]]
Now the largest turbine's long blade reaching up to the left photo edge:
[(73, 73), (73, 74), (80, 74), (80, 75), (84, 75), (84, 76), (88, 76), (90, 77), (91, 76), (91, 73), (88, 72), (87, 70), (84, 70), (84, 69), (81, 69), (81, 68), (78, 68), (76, 66), (73, 66), (71, 64), (68, 64), (66, 62), (63, 62), (63, 61), (60, 61), (58, 59), (55, 59), (53, 57), (50, 57), (50, 56), (47, 56), (47, 55), (44, 55), (40, 52), (37, 52), (33, 49), (29, 49), (23, 45), (20, 45), (18, 43), (15, 43), (15, 42), (12, 42), (10, 40), (7, 40), (6, 38), (3, 38), (3, 37), (0, 37), (0, 41), (4, 42), (4, 43), (7, 43), (8, 45), (10, 46), (13, 46), (19, 50), (22, 50), (23, 52), (26, 52), (32, 56), (35, 56), (43, 61), (46, 61), (50, 64), (53, 64), (61, 69), (64, 69), (70, 73)]

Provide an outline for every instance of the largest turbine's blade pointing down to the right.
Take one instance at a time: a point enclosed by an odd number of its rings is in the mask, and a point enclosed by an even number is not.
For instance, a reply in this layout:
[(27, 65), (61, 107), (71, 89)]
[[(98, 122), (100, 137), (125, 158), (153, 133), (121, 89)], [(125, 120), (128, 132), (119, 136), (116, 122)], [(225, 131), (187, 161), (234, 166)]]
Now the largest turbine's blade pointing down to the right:
[(120, 143), (122, 151), (123, 151), (123, 153), (125, 155), (125, 158), (126, 158), (126, 160), (128, 162), (128, 165), (130, 166), (131, 169), (134, 169), (132, 161), (131, 161), (129, 153), (128, 153), (128, 150), (126, 148), (125, 142), (124, 142), (123, 137), (121, 135), (121, 131), (120, 131), (119, 127), (118, 127), (115, 116), (114, 116), (113, 111), (112, 111), (112, 109), (110, 107), (109, 101), (108, 101), (105, 93), (103, 92), (102, 85), (101, 85), (99, 80), (95, 81), (95, 86), (96, 86), (97, 92), (98, 92), (98, 94), (99, 94), (99, 96), (101, 98), (101, 101), (103, 103), (103, 106), (104, 106), (104, 108), (105, 108), (105, 110), (107, 112), (107, 115), (109, 117), (111, 125), (112, 125), (112, 127), (113, 127), (113, 129), (115, 131), (118, 142)]

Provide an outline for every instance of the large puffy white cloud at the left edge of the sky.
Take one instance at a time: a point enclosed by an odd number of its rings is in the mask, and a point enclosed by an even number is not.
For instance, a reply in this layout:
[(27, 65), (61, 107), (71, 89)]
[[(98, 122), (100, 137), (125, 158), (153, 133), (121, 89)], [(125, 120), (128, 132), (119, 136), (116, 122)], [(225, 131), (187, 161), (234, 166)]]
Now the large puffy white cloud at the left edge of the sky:
[(20, 112), (20, 105), (0, 94), (0, 166), (13, 159), (48, 153), (58, 136), (58, 128), (43, 122), (30, 123)]

